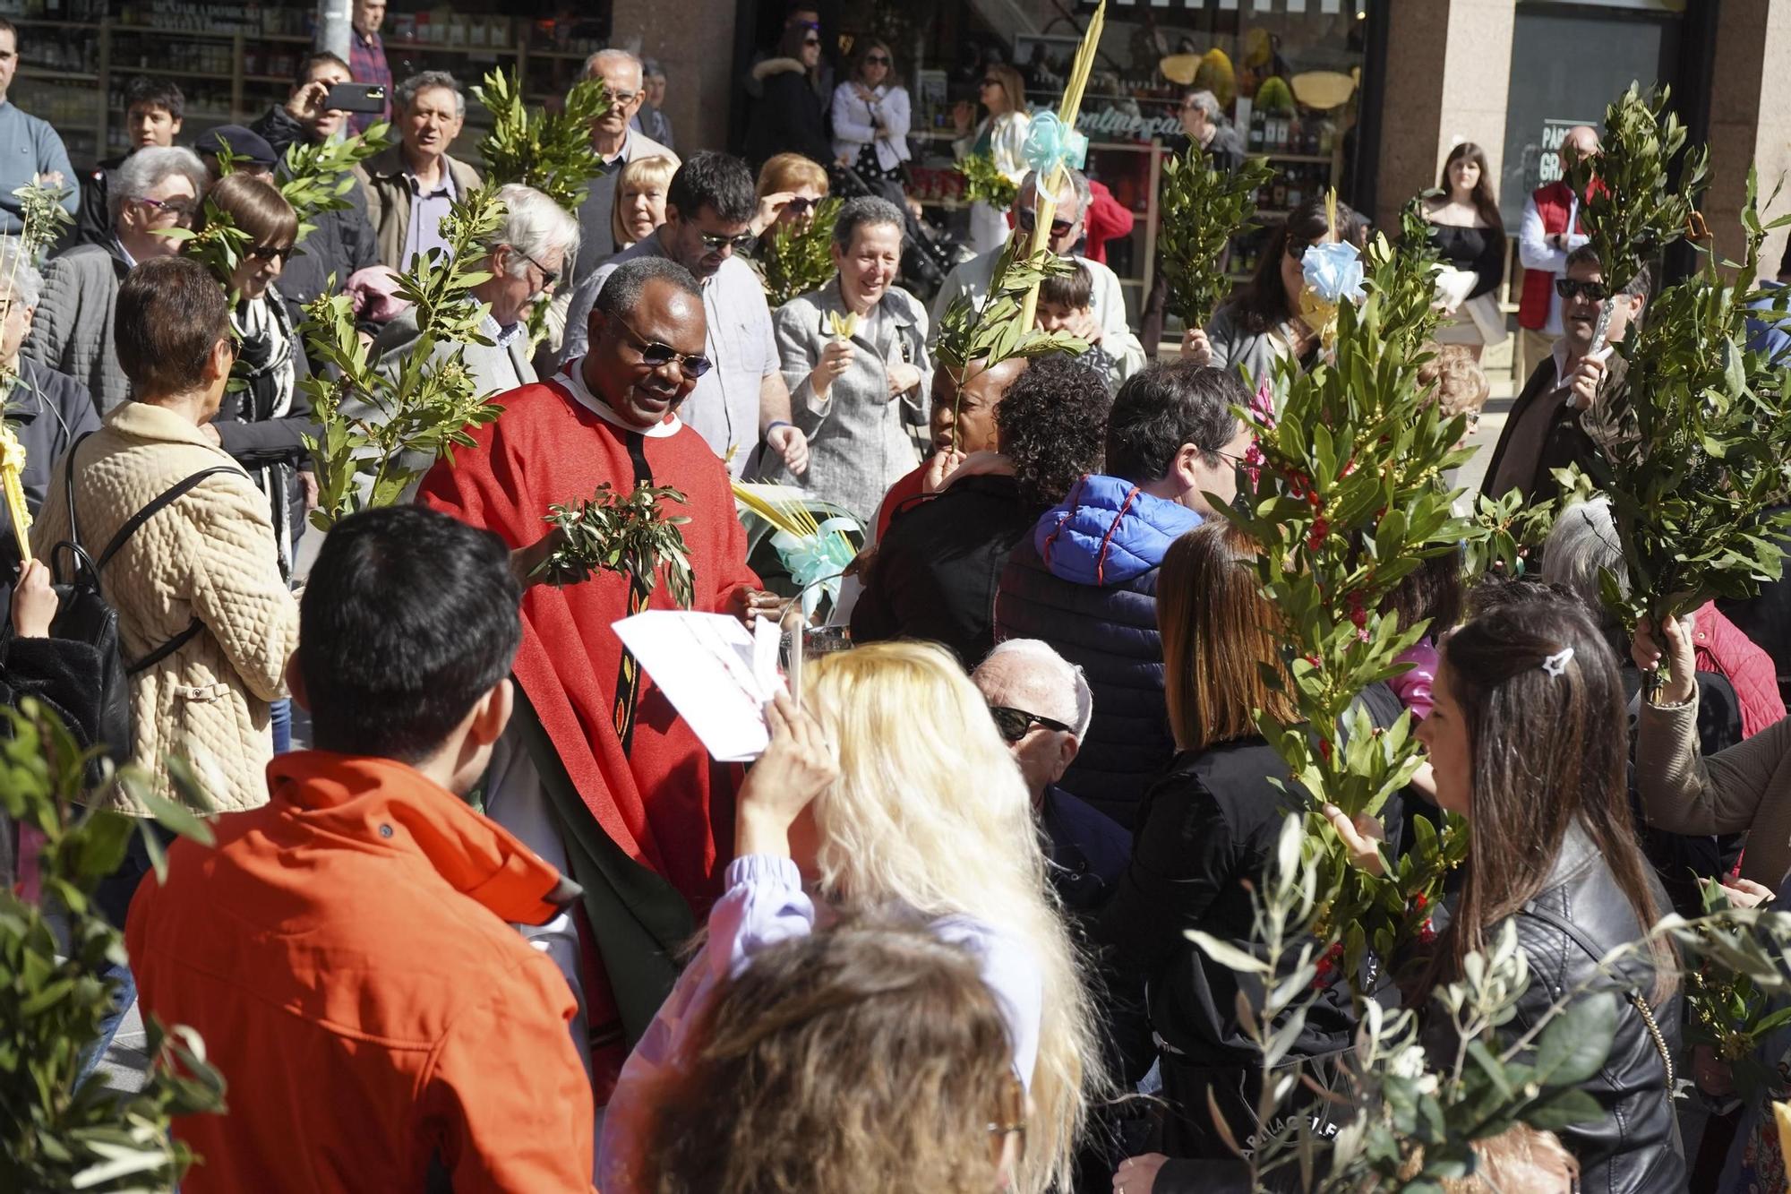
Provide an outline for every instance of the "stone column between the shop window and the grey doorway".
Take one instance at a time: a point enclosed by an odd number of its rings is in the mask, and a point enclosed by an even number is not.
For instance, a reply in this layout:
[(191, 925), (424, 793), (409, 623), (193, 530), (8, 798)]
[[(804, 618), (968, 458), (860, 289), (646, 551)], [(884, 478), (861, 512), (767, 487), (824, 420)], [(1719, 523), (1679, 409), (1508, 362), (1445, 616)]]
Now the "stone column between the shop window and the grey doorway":
[(1406, 199), (1436, 185), (1461, 142), (1504, 163), (1504, 100), (1512, 75), (1515, 0), (1392, 0), (1381, 169), (1374, 222), (1392, 229)]

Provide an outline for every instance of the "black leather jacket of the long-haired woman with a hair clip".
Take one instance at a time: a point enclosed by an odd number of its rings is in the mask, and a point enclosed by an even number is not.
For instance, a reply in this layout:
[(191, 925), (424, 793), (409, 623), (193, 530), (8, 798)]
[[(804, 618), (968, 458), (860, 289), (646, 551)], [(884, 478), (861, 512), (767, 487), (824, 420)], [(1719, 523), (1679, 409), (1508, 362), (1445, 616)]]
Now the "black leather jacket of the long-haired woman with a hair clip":
[[(1655, 895), (1662, 909), (1666, 900)], [(1549, 886), (1517, 914), (1517, 941), (1530, 959), (1530, 990), (1519, 1000), (1508, 1033), (1522, 1033), (1562, 993), (1596, 975), (1599, 957), (1642, 936), (1630, 902), (1617, 887), (1603, 855), (1578, 826), (1567, 832)], [(1653, 1008), (1667, 1052), (1680, 1061), (1682, 1000), (1651, 1002), (1655, 968), (1646, 956), (1621, 963), (1619, 997), (1641, 993)], [(1675, 1070), (1676, 1072), (1676, 1070)], [(1667, 1067), (1639, 1008), (1624, 1000), (1617, 1040), (1605, 1067), (1581, 1090), (1605, 1106), (1605, 1119), (1560, 1129), (1562, 1142), (1580, 1158), (1585, 1194), (1662, 1194), (1685, 1189), (1685, 1156), (1667, 1090)]]

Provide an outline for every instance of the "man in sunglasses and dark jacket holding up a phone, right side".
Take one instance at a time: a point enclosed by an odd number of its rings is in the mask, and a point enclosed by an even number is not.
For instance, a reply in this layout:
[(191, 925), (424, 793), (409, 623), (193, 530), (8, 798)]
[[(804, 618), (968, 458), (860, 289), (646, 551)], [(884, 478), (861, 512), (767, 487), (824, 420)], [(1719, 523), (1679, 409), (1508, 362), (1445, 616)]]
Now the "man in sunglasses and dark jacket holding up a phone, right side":
[(1592, 351), (1592, 332), (1610, 290), (1605, 267), (1590, 246), (1567, 255), (1567, 274), (1555, 280), (1562, 303), (1562, 337), (1555, 351), (1530, 375), (1512, 403), (1499, 446), (1487, 464), (1490, 497), (1521, 489), (1530, 502), (1547, 502), (1560, 493), (1556, 468), (1589, 463), (1626, 434), (1623, 357), (1612, 351), (1630, 323), (1648, 303), (1648, 267), (1612, 298), (1605, 346)]

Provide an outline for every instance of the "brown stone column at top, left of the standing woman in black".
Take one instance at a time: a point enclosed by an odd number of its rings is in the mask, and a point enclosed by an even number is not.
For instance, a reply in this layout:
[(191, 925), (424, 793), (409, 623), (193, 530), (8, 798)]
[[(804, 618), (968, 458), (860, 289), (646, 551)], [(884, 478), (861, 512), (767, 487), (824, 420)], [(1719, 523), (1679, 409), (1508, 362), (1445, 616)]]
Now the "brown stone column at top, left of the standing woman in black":
[(733, 77), (734, 5), (614, 0), (611, 13), (611, 43), (664, 66), (666, 117), (679, 158), (727, 149), (727, 113), (740, 102)]

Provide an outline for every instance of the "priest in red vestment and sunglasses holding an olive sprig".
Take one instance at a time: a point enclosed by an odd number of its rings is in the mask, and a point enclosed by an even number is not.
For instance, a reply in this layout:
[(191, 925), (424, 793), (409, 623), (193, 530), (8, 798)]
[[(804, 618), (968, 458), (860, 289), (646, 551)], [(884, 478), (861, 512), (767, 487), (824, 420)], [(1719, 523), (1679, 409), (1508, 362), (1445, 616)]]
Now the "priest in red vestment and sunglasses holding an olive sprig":
[[(711, 368), (695, 278), (663, 258), (625, 264), (589, 332), (586, 357), (500, 394), (503, 414), (471, 432), (475, 448), (435, 464), (419, 500), (501, 534), (532, 568), (553, 545), (543, 538), (548, 506), (589, 498), (602, 482), (672, 486), (686, 502), (663, 509), (690, 516), (681, 529), (695, 608), (749, 622), (776, 611), (747, 567), (727, 464), (677, 418)], [(530, 936), (578, 995), (575, 1031), (587, 1034), (598, 1104), (733, 857), (738, 767), (709, 758), (613, 629), (645, 608), (675, 608), (663, 577), (650, 595), (613, 572), (527, 592), (518, 717), (485, 782), (489, 814), (586, 891), (582, 916)]]

